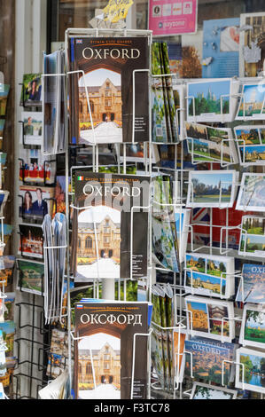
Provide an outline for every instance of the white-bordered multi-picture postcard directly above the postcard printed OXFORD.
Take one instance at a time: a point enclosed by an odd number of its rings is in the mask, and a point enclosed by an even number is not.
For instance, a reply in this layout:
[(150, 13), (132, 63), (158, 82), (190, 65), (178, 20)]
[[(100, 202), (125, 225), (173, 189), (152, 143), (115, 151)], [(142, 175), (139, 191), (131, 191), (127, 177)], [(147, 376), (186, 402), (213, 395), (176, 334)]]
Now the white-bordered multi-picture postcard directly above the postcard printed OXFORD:
[(185, 304), (191, 335), (231, 342), (235, 334), (233, 303), (188, 295)]

